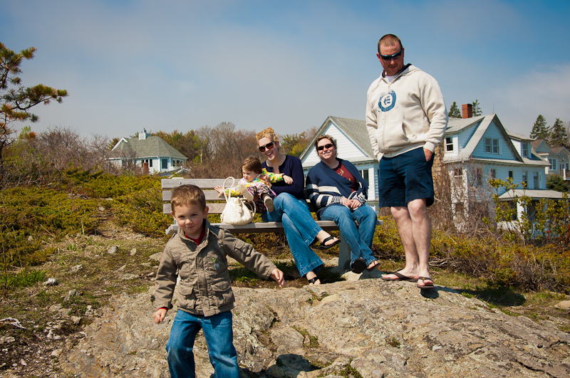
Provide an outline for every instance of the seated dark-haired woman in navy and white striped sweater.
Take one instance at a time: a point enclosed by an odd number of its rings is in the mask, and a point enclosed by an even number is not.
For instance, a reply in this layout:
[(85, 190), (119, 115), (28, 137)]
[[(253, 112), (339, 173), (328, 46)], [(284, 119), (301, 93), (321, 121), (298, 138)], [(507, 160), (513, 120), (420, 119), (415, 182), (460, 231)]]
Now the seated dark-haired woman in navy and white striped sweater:
[[(347, 160), (336, 157), (336, 140), (321, 135), (315, 142), (321, 162), (306, 178), (309, 199), (316, 205), (317, 216), (324, 221), (335, 221), (351, 247), (351, 270), (362, 273), (378, 267), (371, 246), (376, 229), (376, 212), (366, 205), (368, 184), (358, 169)], [(354, 221), (358, 221), (358, 228)]]

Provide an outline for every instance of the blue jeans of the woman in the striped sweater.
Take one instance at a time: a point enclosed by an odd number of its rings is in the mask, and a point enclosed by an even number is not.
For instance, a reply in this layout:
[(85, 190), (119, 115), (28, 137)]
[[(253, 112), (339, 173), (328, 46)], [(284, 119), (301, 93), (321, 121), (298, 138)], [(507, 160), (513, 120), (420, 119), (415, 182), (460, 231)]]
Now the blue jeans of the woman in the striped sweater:
[[(376, 260), (371, 246), (378, 218), (371, 206), (362, 205), (351, 211), (343, 205), (329, 205), (321, 211), (320, 217), (323, 221), (334, 221), (338, 225), (344, 240), (351, 247), (351, 262), (361, 257), (368, 266)], [(358, 227), (354, 221), (358, 222)]]

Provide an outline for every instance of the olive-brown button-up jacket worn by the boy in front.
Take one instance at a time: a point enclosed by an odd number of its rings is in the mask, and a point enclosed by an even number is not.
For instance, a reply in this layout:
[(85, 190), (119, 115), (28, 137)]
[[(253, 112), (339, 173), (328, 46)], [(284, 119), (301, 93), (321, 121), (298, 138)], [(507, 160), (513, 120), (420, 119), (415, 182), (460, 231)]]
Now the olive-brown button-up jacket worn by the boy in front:
[(178, 230), (162, 252), (156, 275), (156, 308), (172, 308), (172, 293), (177, 272), (180, 283), (176, 305), (188, 313), (212, 316), (234, 308), (234, 293), (229, 281), (227, 258), (231, 256), (262, 278), (268, 279), (276, 268), (251, 244), (212, 226), (206, 220), (206, 236), (199, 246)]

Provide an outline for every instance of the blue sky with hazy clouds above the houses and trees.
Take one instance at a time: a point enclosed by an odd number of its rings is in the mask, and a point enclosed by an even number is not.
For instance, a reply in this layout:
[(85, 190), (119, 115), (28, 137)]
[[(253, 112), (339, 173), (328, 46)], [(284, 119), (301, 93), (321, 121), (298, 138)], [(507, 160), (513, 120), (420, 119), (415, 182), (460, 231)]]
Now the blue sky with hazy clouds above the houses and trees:
[[(478, 100), (529, 135), (570, 121), (570, 1), (0, 0), (0, 41), (38, 48), (24, 85), (68, 90), (32, 130), (84, 137), (234, 122), (281, 135), (328, 115), (363, 120), (378, 39), (440, 83), (447, 108)], [(28, 124), (19, 124), (21, 127)]]

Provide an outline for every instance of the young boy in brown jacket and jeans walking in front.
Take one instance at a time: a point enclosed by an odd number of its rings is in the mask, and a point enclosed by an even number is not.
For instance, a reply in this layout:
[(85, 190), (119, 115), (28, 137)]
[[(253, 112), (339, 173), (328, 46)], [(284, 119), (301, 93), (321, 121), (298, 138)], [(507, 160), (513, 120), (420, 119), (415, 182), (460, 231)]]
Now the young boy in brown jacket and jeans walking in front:
[(152, 316), (155, 323), (160, 323), (172, 308), (178, 274), (178, 312), (166, 345), (170, 377), (195, 377), (192, 348), (202, 329), (215, 376), (239, 378), (230, 311), (234, 308), (234, 293), (226, 255), (263, 278), (273, 278), (281, 287), (285, 285), (283, 272), (254, 251), (251, 244), (209, 224), (206, 198), (199, 187), (181, 185), (173, 189), (171, 204), (170, 214), (178, 224), (178, 233), (162, 252), (155, 285), (158, 310)]

